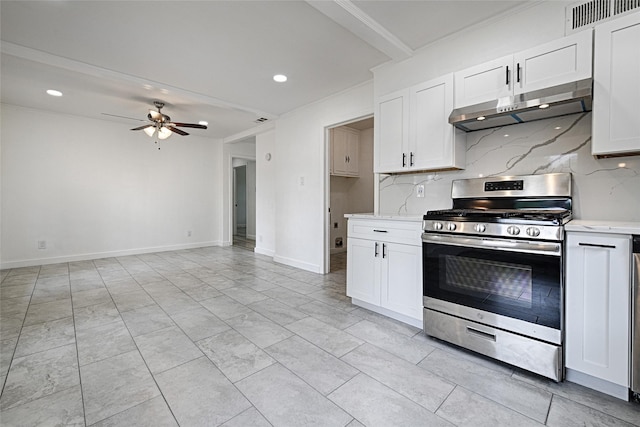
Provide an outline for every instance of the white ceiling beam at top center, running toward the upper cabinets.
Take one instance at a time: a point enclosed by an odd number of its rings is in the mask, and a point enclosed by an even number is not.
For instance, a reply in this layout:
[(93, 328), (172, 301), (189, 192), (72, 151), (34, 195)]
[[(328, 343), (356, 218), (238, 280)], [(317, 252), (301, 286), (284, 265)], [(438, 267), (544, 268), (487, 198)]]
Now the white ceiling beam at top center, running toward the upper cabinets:
[(392, 60), (413, 56), (413, 49), (350, 0), (307, 0), (307, 3)]

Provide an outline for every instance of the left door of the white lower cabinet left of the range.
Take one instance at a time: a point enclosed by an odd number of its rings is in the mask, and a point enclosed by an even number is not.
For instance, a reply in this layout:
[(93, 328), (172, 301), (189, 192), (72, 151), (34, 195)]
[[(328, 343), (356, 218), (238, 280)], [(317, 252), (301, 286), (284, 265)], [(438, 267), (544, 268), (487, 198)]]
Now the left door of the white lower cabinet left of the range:
[(347, 239), (347, 296), (380, 305), (381, 251), (373, 240)]

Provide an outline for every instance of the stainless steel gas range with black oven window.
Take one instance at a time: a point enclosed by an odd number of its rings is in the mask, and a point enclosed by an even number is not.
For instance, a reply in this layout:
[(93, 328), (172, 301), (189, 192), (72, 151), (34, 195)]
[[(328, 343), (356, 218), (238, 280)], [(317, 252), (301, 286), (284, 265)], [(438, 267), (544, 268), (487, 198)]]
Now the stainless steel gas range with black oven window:
[(563, 379), (567, 173), (456, 180), (424, 215), (427, 335)]

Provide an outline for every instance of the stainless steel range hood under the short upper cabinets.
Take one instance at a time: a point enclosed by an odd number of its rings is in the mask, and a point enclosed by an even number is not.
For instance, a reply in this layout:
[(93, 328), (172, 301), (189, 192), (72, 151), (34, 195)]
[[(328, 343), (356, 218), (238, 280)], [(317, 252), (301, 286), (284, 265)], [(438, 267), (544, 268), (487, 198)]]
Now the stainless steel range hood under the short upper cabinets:
[(592, 79), (457, 108), (449, 123), (465, 132), (591, 111)]

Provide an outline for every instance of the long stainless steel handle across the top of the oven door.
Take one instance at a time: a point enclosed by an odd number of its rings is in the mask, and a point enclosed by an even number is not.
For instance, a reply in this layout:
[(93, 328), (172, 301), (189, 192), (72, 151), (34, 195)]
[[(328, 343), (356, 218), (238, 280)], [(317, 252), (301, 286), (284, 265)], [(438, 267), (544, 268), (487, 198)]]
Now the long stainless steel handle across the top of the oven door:
[(448, 236), (442, 234), (423, 233), (422, 241), (439, 245), (462, 246), (476, 249), (493, 249), (509, 252), (523, 252), (560, 256), (562, 246), (553, 242), (536, 242), (528, 240), (487, 239), (472, 236)]

